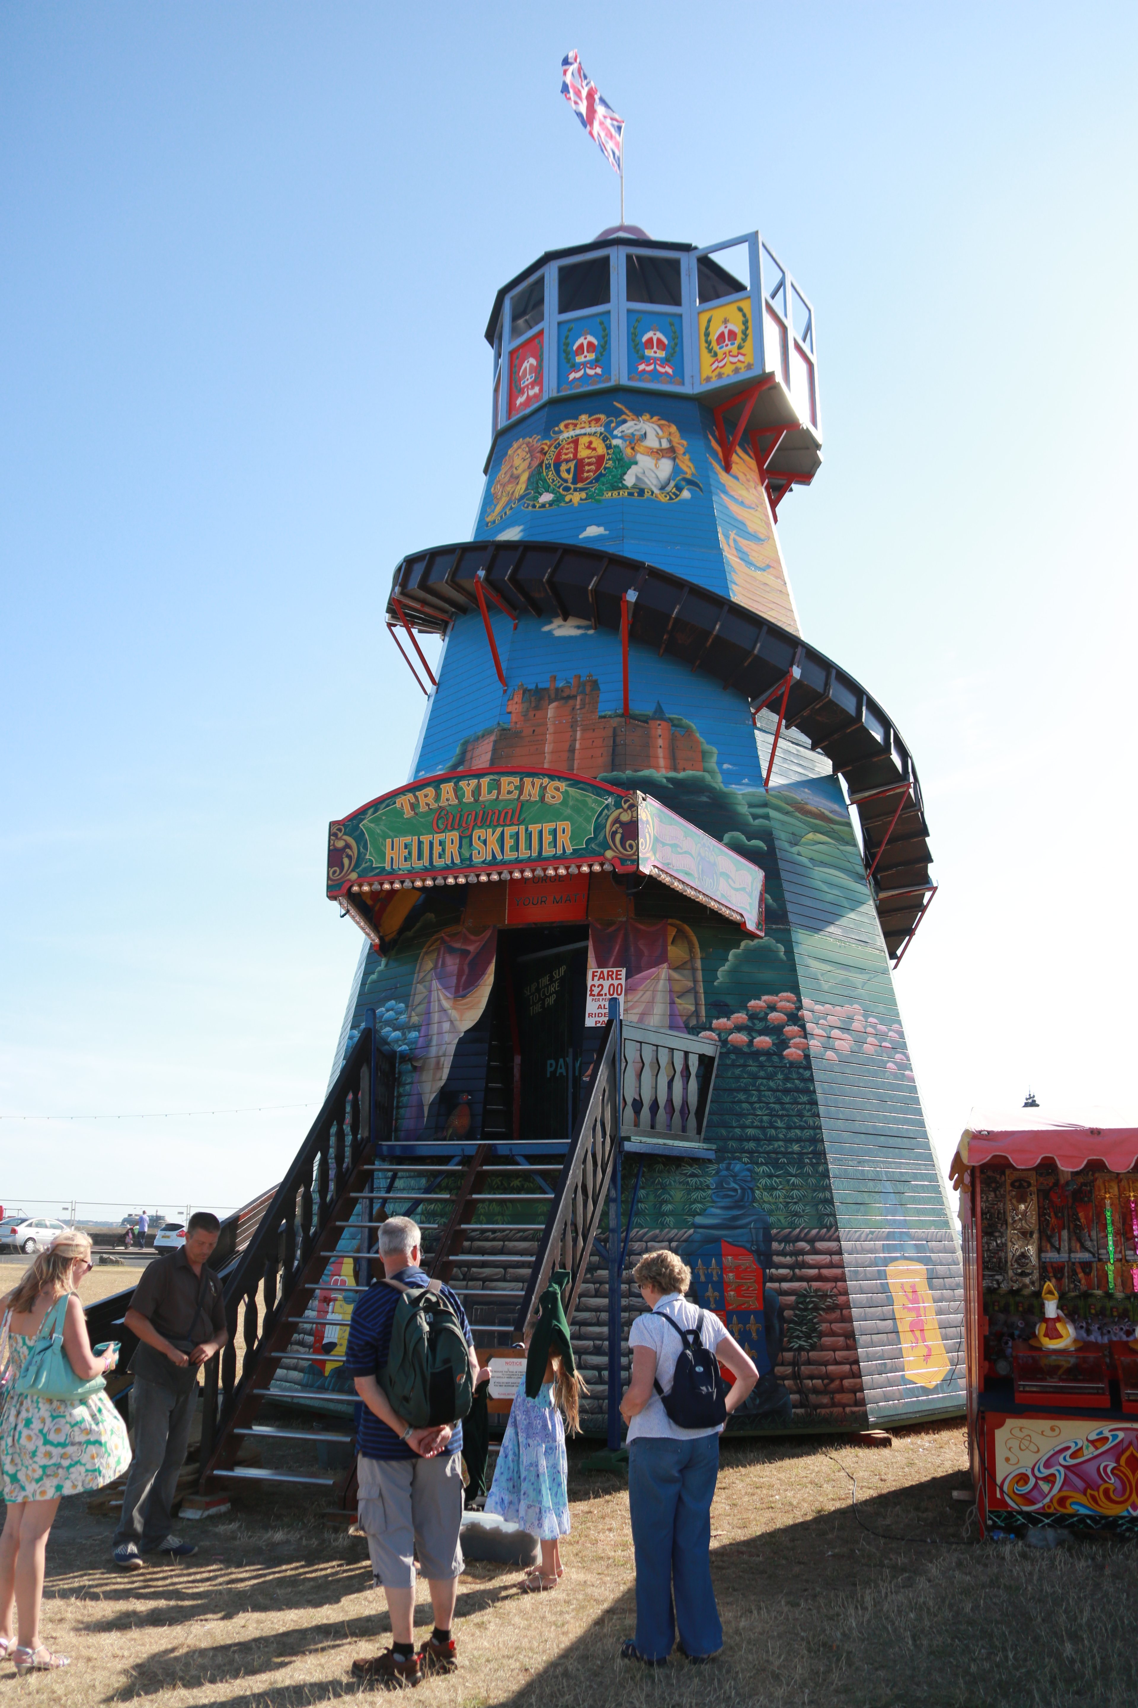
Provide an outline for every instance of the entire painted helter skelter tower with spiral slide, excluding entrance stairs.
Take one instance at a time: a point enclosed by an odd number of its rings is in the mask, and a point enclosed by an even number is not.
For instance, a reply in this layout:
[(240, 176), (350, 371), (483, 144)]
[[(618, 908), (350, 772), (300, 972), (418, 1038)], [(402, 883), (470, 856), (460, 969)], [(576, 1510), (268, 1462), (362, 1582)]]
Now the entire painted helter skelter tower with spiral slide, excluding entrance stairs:
[[(758, 232), (623, 225), (503, 285), (486, 340), (473, 538), (404, 557), (387, 605), (427, 678), (409, 777), (331, 827), (369, 938), (341, 1054), (374, 1008), (396, 1139), (483, 1156), (464, 1249), (498, 1250), (495, 1168), (544, 1146), (548, 1196), (594, 1086), (589, 977), (616, 970), (621, 1228), (575, 1317), (594, 1428), (655, 1243), (759, 1363), (744, 1426), (957, 1411), (957, 1242), (891, 979), (935, 888), (921, 791), (804, 639), (775, 528), (821, 465), (814, 311)], [(689, 1081), (669, 1040), (718, 1045), (694, 1124), (706, 1059)], [(493, 1341), (505, 1271), (476, 1262)]]

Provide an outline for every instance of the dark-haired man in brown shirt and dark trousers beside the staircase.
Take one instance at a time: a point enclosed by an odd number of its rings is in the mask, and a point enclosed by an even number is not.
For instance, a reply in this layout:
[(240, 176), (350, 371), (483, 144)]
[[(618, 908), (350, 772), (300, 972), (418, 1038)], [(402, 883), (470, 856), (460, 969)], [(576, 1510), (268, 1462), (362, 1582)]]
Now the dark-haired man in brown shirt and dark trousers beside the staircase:
[(126, 1571), (142, 1570), (143, 1554), (181, 1559), (198, 1551), (171, 1535), (171, 1506), (198, 1404), (198, 1372), (229, 1339), (222, 1283), (206, 1266), (220, 1231), (217, 1216), (195, 1211), (184, 1247), (143, 1269), (126, 1312), (140, 1342), (130, 1361), (135, 1457), (114, 1532), (114, 1565)]

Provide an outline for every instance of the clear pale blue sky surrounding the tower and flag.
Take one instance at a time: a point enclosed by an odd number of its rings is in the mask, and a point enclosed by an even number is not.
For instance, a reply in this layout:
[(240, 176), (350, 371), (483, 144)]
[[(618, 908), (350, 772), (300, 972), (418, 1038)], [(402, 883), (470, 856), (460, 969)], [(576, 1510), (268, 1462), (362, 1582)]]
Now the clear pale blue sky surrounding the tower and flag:
[[(469, 535), (496, 287), (618, 217), (812, 295), (805, 632), (921, 772), (899, 996), (973, 1105), (1133, 1110), (1133, 5), (0, 12), (0, 1112), (319, 1103), (403, 781), (398, 559)], [(237, 1204), (309, 1110), (0, 1124), (0, 1202)]]

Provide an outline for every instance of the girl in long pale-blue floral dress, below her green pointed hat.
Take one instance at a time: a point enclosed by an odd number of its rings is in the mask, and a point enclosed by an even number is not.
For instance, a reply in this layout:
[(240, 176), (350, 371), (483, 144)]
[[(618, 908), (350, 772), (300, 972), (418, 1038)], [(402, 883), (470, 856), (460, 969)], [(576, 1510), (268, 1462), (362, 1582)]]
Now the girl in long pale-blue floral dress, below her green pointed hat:
[(486, 1512), (541, 1542), (541, 1566), (522, 1583), (525, 1590), (554, 1590), (563, 1575), (560, 1539), (570, 1532), (565, 1423), (570, 1435), (580, 1428), (580, 1390), (589, 1392), (554, 1354), (553, 1382), (543, 1382), (536, 1399), (527, 1397), (522, 1382), (502, 1436)]

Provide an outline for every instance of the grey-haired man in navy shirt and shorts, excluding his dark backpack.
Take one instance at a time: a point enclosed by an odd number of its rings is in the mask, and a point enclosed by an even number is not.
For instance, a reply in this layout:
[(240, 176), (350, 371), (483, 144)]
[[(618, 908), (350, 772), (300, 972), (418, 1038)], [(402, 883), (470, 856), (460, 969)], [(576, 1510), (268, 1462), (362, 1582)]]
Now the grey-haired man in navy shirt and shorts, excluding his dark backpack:
[[(379, 1382), (391, 1351), (391, 1327), (403, 1288), (428, 1286), (420, 1267), (423, 1235), (409, 1216), (391, 1216), (379, 1230), (379, 1255), (387, 1281), (374, 1283), (357, 1301), (343, 1368), (355, 1377), (363, 1401), (358, 1431), (360, 1525), (367, 1532), (375, 1583), (387, 1594), (392, 1648), (353, 1660), (357, 1677), (384, 1684), (418, 1684), (428, 1672), (454, 1672), (450, 1635), (462, 1571), (462, 1424), (415, 1430), (401, 1418)], [(471, 1325), (456, 1293), (442, 1296), (454, 1308), (478, 1382)], [(415, 1554), (430, 1582), (435, 1629), (415, 1652)]]

